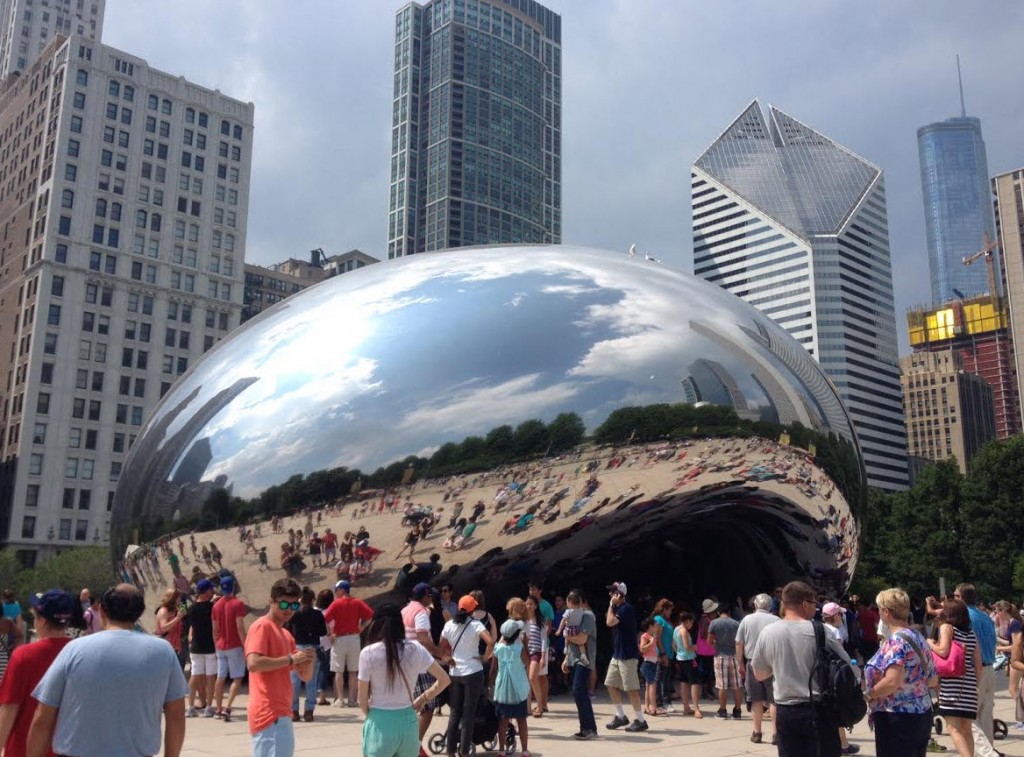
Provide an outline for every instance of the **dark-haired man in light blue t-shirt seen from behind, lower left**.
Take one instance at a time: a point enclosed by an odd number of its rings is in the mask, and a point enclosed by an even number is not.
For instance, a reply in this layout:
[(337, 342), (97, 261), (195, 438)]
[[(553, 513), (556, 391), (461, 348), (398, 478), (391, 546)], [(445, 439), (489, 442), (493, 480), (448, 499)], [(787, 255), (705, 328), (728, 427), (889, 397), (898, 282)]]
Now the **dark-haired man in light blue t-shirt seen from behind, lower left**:
[(103, 593), (103, 631), (65, 646), (32, 692), (39, 706), (29, 754), (46, 754), (51, 745), (57, 754), (80, 757), (157, 754), (163, 719), (163, 753), (178, 757), (188, 685), (171, 645), (133, 630), (144, 609), (130, 584)]

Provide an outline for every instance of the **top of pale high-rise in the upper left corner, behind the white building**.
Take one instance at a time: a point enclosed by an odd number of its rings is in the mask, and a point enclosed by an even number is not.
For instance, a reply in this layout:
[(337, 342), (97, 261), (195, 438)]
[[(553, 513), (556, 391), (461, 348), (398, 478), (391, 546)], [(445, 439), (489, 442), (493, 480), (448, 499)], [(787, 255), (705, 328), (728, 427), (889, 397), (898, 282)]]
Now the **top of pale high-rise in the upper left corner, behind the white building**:
[(102, 41), (106, 0), (0, 0), (0, 80), (20, 73), (56, 35)]

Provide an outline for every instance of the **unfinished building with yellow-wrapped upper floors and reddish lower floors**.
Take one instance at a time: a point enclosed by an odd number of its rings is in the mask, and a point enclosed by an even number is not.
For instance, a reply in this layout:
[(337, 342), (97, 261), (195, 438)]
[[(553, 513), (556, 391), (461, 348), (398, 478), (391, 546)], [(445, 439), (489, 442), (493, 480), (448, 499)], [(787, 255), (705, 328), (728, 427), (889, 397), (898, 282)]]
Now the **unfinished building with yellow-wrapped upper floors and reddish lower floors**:
[(964, 371), (978, 374), (992, 387), (997, 438), (1021, 432), (1010, 317), (1001, 297), (985, 294), (939, 307), (920, 307), (910, 310), (906, 321), (914, 352), (952, 348)]

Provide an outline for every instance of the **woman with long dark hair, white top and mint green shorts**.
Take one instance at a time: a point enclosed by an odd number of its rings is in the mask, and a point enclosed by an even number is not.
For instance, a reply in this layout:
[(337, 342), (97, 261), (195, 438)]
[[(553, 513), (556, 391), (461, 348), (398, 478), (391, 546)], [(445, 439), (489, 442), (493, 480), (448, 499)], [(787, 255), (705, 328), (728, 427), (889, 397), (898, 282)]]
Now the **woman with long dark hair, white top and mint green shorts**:
[[(406, 625), (397, 604), (382, 604), (367, 630), (367, 645), (359, 653), (359, 709), (364, 757), (417, 757), (420, 726), (416, 714), (426, 702), (444, 690), (449, 676), (429, 651), (406, 638)], [(436, 680), (419, 697), (413, 696), (416, 678), (430, 673)]]

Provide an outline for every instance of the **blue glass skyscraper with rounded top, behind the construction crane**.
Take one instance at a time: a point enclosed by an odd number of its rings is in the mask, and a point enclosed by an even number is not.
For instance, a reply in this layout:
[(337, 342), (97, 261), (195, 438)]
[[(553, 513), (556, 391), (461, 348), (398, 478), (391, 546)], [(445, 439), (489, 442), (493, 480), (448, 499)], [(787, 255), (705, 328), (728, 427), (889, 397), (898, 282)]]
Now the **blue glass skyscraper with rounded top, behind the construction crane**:
[(981, 121), (961, 116), (922, 126), (918, 153), (933, 304), (984, 294), (985, 262), (963, 262), (965, 255), (982, 248), (986, 234), (995, 239)]

